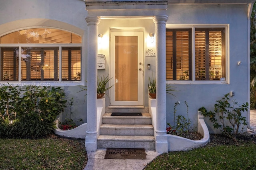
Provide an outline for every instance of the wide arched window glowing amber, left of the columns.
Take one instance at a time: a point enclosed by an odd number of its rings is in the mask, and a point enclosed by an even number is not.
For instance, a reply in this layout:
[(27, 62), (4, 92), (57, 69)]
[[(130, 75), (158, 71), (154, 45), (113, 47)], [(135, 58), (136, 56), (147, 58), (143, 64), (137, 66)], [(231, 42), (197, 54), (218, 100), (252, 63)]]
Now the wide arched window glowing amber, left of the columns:
[(24, 29), (4, 35), (0, 80), (80, 81), (81, 45), (81, 36), (60, 29)]

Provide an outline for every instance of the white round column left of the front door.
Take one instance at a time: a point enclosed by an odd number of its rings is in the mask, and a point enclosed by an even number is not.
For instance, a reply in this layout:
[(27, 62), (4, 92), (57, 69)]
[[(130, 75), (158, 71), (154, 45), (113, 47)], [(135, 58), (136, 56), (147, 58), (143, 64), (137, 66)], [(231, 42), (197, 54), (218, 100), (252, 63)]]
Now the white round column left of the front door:
[(97, 150), (97, 53), (98, 23), (96, 16), (86, 17), (88, 25), (88, 64), (87, 64), (87, 130), (85, 137), (86, 151)]

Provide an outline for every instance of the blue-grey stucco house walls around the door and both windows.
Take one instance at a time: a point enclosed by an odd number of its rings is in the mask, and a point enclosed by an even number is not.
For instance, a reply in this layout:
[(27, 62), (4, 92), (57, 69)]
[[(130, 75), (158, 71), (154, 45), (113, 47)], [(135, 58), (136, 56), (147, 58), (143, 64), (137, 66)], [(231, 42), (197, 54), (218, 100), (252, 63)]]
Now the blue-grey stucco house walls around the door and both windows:
[[(120, 12), (118, 12), (120, 13)], [(139, 12), (143, 14), (143, 11)], [(225, 24), (228, 25), (228, 57), (227, 72), (228, 84), (186, 84), (171, 82), (177, 87), (179, 92), (174, 92), (175, 96), (167, 94), (167, 122), (172, 123), (173, 107), (176, 101), (180, 101), (176, 114), (186, 115), (184, 101), (188, 102), (190, 120), (197, 125), (198, 108), (205, 106), (213, 109), (215, 100), (219, 100), (224, 94), (230, 91), (235, 92), (231, 100), (236, 99), (239, 104), (248, 102), (248, 23), (246, 5), (168, 5), (166, 14), (169, 16), (166, 27), (179, 24), (183, 26), (193, 26), (193, 24)], [(82, 0), (1, 0), (0, 1), (0, 36), (13, 31), (33, 28), (52, 27), (65, 29), (82, 36), (82, 64), (87, 65), (87, 11)], [(148, 11), (147, 11), (148, 15)], [(146, 37), (149, 33), (155, 32), (155, 25), (152, 19), (102, 19), (99, 23), (98, 33), (104, 34), (106, 44), (103, 48), (98, 48), (99, 54), (106, 55), (106, 69), (99, 70), (100, 75), (109, 74), (110, 29), (118, 27), (137, 27), (144, 31), (144, 54), (148, 49)], [(238, 66), (237, 62), (242, 61)], [(150, 64), (150, 70), (146, 65)], [(148, 107), (148, 76), (155, 71), (155, 57), (144, 57), (144, 106)], [(86, 67), (82, 67), (84, 72), (82, 84), (86, 79)], [(63, 84), (61, 84), (63, 85)], [(77, 93), (80, 88), (76, 84), (62, 86), (65, 89), (68, 100), (74, 98), (74, 114), (78, 114), (74, 119), (84, 119), (86, 122), (86, 101), (84, 103), (84, 93)], [(109, 99), (106, 97), (106, 106)], [(68, 108), (67, 108), (68, 109)], [(247, 114), (244, 115), (247, 117)], [(207, 123), (207, 122), (206, 122)], [(209, 121), (208, 121), (209, 124)], [(213, 129), (210, 129), (210, 133)]]

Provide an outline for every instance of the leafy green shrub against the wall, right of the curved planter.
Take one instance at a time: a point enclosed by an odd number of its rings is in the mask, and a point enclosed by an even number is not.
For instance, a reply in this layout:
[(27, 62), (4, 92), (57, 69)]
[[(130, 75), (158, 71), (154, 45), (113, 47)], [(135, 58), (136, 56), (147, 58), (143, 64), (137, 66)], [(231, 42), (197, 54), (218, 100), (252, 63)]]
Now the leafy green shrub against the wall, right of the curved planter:
[(224, 135), (236, 140), (236, 136), (243, 131), (244, 126), (247, 125), (246, 117), (242, 116), (242, 112), (248, 111), (248, 102), (242, 106), (236, 107), (238, 102), (232, 100), (225, 94), (221, 100), (216, 100), (214, 111), (207, 111), (205, 107), (198, 109), (202, 112), (204, 117), (210, 117), (215, 129), (220, 129)]

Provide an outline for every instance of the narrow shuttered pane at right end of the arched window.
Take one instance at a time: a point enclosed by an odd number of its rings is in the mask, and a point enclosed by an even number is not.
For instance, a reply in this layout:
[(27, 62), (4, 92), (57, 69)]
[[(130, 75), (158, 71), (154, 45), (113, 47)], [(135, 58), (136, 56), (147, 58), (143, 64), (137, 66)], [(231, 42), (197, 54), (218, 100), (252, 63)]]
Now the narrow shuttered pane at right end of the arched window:
[(80, 47), (62, 47), (62, 80), (81, 80)]

